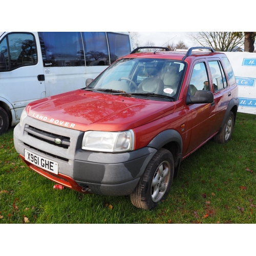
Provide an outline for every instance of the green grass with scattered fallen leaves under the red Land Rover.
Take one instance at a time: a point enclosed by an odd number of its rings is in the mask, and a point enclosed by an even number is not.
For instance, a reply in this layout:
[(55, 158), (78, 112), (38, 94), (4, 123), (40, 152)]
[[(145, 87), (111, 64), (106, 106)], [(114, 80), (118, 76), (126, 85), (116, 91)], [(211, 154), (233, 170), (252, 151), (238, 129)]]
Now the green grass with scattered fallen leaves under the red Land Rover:
[(256, 223), (256, 116), (238, 113), (231, 141), (209, 141), (181, 163), (166, 198), (141, 210), (130, 197), (82, 195), (30, 170), (0, 137), (0, 223)]

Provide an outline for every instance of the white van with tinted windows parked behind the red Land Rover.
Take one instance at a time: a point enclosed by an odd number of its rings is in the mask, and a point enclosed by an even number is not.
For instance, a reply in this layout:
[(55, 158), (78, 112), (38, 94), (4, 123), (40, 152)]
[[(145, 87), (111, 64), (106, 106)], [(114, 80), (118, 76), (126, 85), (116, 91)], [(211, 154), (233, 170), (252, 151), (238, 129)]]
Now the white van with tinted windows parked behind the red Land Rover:
[(131, 51), (129, 32), (0, 32), (0, 135), (29, 102), (85, 87)]

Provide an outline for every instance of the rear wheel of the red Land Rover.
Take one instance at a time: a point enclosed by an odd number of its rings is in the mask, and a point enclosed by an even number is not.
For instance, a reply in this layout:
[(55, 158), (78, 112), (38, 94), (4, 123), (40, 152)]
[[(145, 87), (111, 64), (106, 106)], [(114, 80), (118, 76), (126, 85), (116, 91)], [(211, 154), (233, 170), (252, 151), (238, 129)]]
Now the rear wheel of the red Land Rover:
[(229, 112), (229, 115), (226, 118), (225, 124), (221, 132), (215, 135), (214, 141), (221, 144), (229, 141), (231, 139), (233, 127), (234, 127), (234, 114), (233, 112)]

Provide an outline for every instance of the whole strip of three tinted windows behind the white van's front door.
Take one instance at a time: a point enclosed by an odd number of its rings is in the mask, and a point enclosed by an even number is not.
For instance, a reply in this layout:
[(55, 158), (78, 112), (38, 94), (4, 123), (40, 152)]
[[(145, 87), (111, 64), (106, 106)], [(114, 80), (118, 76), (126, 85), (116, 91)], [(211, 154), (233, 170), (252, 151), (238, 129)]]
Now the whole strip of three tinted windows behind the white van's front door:
[(131, 52), (130, 36), (113, 32), (38, 32), (44, 67), (109, 66)]

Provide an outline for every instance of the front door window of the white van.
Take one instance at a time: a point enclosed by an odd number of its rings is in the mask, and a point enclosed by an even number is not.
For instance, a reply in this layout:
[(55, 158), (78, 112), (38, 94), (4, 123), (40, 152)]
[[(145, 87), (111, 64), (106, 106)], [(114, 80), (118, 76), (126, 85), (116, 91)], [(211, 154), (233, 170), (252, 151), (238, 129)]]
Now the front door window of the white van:
[(36, 65), (37, 63), (35, 38), (30, 33), (8, 34), (0, 42), (0, 49), (7, 66), (4, 71)]

